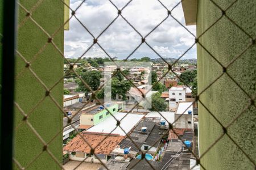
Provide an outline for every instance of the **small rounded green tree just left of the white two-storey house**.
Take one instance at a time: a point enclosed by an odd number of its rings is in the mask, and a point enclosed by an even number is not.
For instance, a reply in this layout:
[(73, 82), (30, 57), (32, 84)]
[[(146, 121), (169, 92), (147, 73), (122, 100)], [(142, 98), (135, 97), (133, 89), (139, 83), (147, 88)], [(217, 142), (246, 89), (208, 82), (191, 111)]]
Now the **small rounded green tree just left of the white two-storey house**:
[[(157, 111), (165, 111), (167, 108), (167, 104), (164, 101), (164, 99), (161, 97), (161, 94), (159, 92), (151, 96), (151, 102), (152, 102), (152, 108), (150, 109), (151, 111), (156, 111), (156, 109)], [(156, 109), (153, 107), (153, 105)]]

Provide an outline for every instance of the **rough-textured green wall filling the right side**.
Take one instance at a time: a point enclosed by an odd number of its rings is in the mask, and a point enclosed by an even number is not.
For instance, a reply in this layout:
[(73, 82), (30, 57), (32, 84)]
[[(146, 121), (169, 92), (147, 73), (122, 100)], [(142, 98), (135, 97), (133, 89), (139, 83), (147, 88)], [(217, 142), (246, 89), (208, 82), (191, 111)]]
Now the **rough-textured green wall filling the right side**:
[[(233, 1), (215, 0), (222, 8)], [(256, 1), (238, 1), (226, 11), (250, 36), (256, 37)], [(197, 14), (197, 36), (204, 32), (221, 16), (222, 12), (212, 2), (199, 1)], [(228, 19), (222, 18), (200, 39), (201, 44), (226, 66), (250, 44), (251, 39)], [(251, 96), (256, 91), (256, 45), (253, 45), (227, 69), (234, 80)], [(197, 44), (197, 75), (199, 92), (222, 73), (222, 67)], [(250, 104), (249, 97), (226, 75), (222, 76), (200, 96), (201, 101), (226, 126)], [(208, 111), (199, 104), (200, 154), (223, 133), (221, 126)], [(256, 163), (256, 109), (251, 106), (228, 128), (228, 134)], [(206, 169), (255, 169), (240, 149), (224, 137), (201, 159)]]

